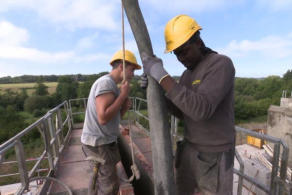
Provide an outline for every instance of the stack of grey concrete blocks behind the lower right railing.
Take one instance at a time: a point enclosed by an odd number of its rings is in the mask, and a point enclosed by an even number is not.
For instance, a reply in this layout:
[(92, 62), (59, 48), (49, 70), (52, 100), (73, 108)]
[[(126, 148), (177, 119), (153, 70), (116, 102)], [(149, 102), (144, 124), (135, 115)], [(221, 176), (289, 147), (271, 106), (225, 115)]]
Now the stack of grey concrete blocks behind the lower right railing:
[[(272, 156), (267, 153), (262, 154), (265, 158), (267, 158), (270, 162), (272, 161)], [(244, 174), (255, 178), (256, 172), (258, 170), (258, 174), (256, 176), (256, 180), (260, 183), (264, 184), (268, 188), (271, 184), (271, 171), (258, 159), (258, 158), (251, 158), (243, 161), (244, 163)], [(243, 179), (243, 185), (248, 189), (251, 188), (252, 184), (245, 179)], [(252, 186), (251, 192), (255, 193), (256, 195), (268, 195), (264, 191), (260, 190), (256, 186)]]

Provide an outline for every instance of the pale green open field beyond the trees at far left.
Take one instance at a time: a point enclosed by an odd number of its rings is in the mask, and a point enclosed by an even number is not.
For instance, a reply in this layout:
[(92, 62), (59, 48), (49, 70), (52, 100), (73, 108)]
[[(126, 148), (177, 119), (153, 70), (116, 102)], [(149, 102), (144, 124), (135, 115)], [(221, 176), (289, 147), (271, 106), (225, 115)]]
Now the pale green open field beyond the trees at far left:
[[(36, 82), (0, 84), (0, 94), (3, 94), (5, 89), (12, 89), (15, 92), (20, 92), (21, 89), (27, 89), (27, 93), (31, 95), (34, 92), (34, 86), (36, 84)], [(57, 82), (44, 82), (44, 84), (49, 87), (48, 92), (50, 94), (55, 93), (58, 84)]]

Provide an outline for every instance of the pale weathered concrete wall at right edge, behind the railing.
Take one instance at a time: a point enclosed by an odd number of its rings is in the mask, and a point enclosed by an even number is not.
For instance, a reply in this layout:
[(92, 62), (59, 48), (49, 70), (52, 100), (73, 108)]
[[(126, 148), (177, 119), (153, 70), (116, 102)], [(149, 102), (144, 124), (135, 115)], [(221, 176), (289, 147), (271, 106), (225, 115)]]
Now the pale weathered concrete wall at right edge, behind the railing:
[[(267, 134), (286, 141), (290, 149), (288, 166), (292, 167), (292, 108), (270, 106)], [(271, 147), (273, 148), (274, 145)]]

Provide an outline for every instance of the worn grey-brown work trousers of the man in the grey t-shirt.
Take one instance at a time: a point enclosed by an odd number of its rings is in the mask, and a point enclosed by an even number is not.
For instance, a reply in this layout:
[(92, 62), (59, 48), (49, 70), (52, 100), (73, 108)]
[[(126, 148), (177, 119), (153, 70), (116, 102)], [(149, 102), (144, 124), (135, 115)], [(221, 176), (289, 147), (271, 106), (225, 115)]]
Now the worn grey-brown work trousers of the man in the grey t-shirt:
[[(121, 160), (119, 148), (116, 142), (100, 146), (88, 146), (82, 144), (86, 156), (96, 156), (106, 160), (104, 165), (99, 164), (95, 190), (91, 190), (92, 176), (89, 182), (89, 195), (117, 195), (119, 190), (119, 177), (116, 164)], [(94, 163), (90, 161), (93, 170)]]

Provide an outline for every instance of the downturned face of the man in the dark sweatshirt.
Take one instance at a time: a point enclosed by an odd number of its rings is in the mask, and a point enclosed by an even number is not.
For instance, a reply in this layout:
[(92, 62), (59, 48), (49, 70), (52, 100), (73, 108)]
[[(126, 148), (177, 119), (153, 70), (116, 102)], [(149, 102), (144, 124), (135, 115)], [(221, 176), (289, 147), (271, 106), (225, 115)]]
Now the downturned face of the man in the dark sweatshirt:
[(195, 66), (201, 61), (202, 53), (200, 51), (201, 41), (197, 40), (194, 43), (186, 41), (173, 50), (173, 53), (176, 55), (177, 59), (186, 67), (188, 70), (192, 70)]

